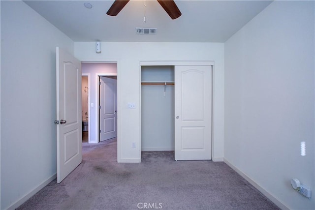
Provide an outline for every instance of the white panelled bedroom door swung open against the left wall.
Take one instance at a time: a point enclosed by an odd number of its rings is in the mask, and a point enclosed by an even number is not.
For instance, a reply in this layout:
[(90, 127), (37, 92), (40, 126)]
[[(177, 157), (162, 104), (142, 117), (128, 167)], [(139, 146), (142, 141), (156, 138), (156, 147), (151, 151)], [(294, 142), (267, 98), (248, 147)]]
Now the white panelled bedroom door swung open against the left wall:
[(56, 49), (57, 182), (82, 162), (81, 62)]

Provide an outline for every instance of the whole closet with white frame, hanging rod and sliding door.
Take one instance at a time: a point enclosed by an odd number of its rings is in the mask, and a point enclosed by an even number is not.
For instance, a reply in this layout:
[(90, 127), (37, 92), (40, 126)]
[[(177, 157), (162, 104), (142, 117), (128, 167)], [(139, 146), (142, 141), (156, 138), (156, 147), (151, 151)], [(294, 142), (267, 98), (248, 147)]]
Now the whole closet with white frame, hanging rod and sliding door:
[(174, 151), (175, 160), (212, 159), (213, 64), (140, 62), (140, 155)]

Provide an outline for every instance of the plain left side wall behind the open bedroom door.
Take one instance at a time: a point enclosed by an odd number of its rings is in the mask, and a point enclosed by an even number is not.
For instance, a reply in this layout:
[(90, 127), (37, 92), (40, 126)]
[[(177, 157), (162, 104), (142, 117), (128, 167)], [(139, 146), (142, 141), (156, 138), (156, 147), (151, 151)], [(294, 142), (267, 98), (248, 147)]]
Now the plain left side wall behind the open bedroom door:
[(73, 54), (23, 1), (1, 1), (1, 209), (56, 177), (56, 46)]

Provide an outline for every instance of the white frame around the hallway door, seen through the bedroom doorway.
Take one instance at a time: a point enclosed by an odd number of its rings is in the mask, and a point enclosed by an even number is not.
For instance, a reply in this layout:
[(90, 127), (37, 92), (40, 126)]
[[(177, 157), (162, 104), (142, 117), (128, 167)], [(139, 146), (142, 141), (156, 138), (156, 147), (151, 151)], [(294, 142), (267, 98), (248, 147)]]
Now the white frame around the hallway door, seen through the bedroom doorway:
[[(95, 98), (97, 98), (97, 106), (96, 107), (99, 107), (100, 106), (100, 96), (99, 96), (99, 81), (100, 81), (100, 77), (117, 77), (117, 86), (116, 86), (116, 89), (118, 88), (118, 76), (117, 74), (115, 73), (96, 73), (95, 75), (95, 81), (96, 81), (96, 89), (97, 91), (95, 91)], [(117, 90), (117, 97), (116, 97), (116, 103), (117, 103), (117, 113), (118, 113), (118, 90)], [(99, 131), (100, 129), (100, 116), (99, 116), (99, 108), (95, 109), (95, 115), (97, 116), (97, 132)], [(117, 121), (118, 121), (118, 115), (117, 115)], [(118, 122), (117, 122), (117, 140), (118, 140)], [(97, 143), (100, 142), (100, 134), (98, 132), (98, 135), (97, 135)], [(117, 144), (118, 145), (118, 144)]]

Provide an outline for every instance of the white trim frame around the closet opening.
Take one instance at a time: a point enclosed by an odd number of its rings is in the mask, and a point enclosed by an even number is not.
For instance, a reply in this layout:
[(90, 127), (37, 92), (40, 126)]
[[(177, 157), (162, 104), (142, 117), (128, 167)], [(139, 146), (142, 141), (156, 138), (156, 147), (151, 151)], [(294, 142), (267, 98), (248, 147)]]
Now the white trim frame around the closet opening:
[[(139, 68), (140, 68), (140, 73), (139, 73), (139, 81), (141, 82), (141, 67), (142, 66), (159, 66), (159, 65), (171, 65), (171, 66), (176, 66), (176, 65), (210, 65), (212, 67), (212, 133), (211, 133), (211, 160), (213, 161), (214, 158), (214, 124), (215, 124), (215, 116), (214, 116), (214, 98), (215, 98), (215, 62), (214, 61), (140, 61), (139, 63)], [(139, 88), (140, 92), (140, 160), (141, 160), (141, 84)], [(176, 85), (176, 84), (175, 84)], [(174, 116), (175, 117), (175, 116)]]

